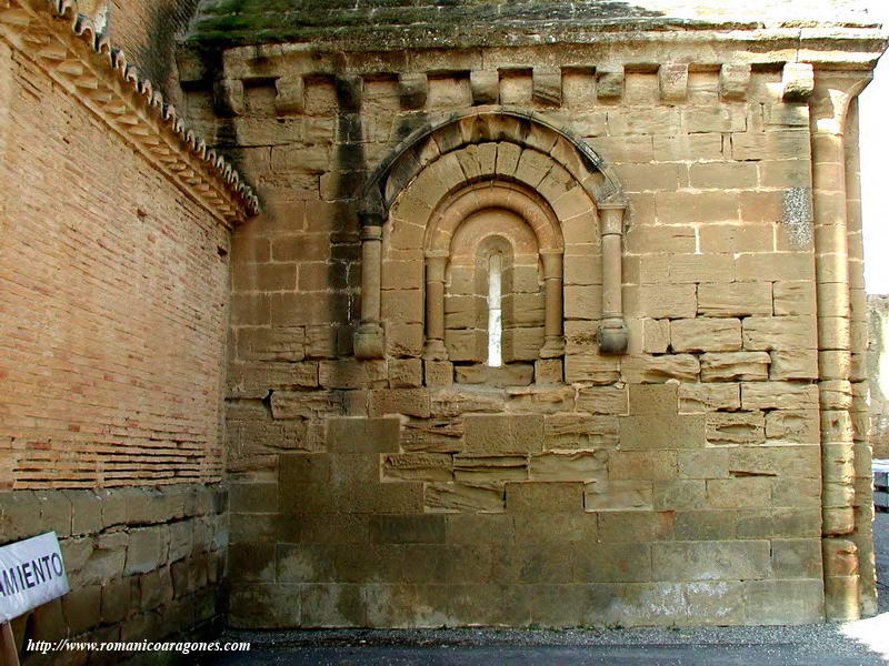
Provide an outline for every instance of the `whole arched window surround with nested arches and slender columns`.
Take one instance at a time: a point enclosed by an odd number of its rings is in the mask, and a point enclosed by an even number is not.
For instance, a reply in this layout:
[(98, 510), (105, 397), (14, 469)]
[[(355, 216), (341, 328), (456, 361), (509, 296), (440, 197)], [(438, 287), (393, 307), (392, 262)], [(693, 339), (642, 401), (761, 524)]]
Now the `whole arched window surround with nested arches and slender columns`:
[[(424, 359), (458, 360), (455, 344), (446, 344), (446, 337), (468, 340), (470, 335), (444, 334), (450, 331), (446, 319), (460, 320), (446, 317), (446, 301), (460, 301), (460, 294), (446, 287), (446, 281), (451, 282), (446, 276), (459, 263), (455, 262), (453, 241), (461, 225), (482, 213), (499, 223), (507, 218), (515, 221), (512, 225), (518, 226), (515, 233), (506, 233), (507, 240), (516, 241), (523, 233), (519, 228), (527, 228), (535, 239), (535, 263), (540, 266), (537, 282), (542, 292), (537, 293), (537, 287), (513, 290), (503, 302), (527, 301), (522, 315), (526, 310), (540, 310), (546, 316), (539, 322), (516, 319), (525, 330), (510, 330), (509, 336), (517, 341), (511, 349), (521, 350), (511, 356), (533, 361), (565, 355), (566, 269), (578, 275), (598, 263), (597, 258), (606, 251), (615, 256), (602, 256), (601, 262), (609, 269), (599, 281), (599, 349), (622, 353), (627, 347), (620, 303), (625, 208), (620, 186), (598, 155), (535, 114), (478, 109), (419, 130), (380, 165), (361, 193), (362, 293), (356, 354), (383, 355), (386, 313), (390, 326), (423, 326)], [(483, 241), (481, 236), (478, 240)], [(402, 265), (416, 266), (418, 261), (424, 263), (422, 274)], [(576, 286), (596, 291), (589, 283)], [(472, 293), (479, 296), (476, 291)], [(449, 293), (450, 301), (446, 299)], [(543, 306), (535, 305), (537, 300), (542, 300)], [(462, 362), (482, 354), (480, 343), (468, 341), (467, 345), (473, 351), (460, 352)]]

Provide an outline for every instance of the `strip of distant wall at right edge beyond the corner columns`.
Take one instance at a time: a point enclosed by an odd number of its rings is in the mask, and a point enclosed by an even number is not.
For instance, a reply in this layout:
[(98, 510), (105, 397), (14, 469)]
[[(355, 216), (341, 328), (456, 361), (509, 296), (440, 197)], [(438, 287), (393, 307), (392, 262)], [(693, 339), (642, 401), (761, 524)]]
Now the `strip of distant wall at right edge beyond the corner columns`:
[(889, 458), (889, 295), (868, 296), (868, 383), (875, 458)]

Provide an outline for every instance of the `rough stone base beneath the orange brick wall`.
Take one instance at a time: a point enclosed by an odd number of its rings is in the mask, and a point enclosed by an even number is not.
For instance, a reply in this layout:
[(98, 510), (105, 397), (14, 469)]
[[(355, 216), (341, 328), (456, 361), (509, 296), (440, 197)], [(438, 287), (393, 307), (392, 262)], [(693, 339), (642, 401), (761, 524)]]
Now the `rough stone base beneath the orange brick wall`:
[[(140, 642), (212, 633), (224, 608), (228, 496), (219, 485), (0, 493), (2, 542), (44, 531), (59, 537), (71, 592), (12, 623), (33, 640)], [(66, 664), (130, 655), (70, 653)], [(144, 655), (142, 655), (144, 656)], [(60, 655), (22, 653), (26, 664)], [(98, 659), (98, 660), (97, 660)]]

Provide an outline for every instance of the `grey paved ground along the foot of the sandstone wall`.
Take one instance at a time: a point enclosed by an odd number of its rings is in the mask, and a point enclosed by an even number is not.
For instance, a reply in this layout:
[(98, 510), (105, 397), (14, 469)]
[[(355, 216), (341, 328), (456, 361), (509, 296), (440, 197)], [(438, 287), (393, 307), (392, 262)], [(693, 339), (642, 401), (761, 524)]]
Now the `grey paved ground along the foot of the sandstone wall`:
[(253, 650), (213, 666), (489, 666), (657, 664), (852, 666), (889, 664), (889, 514), (877, 514), (881, 615), (848, 625), (613, 630), (232, 632)]

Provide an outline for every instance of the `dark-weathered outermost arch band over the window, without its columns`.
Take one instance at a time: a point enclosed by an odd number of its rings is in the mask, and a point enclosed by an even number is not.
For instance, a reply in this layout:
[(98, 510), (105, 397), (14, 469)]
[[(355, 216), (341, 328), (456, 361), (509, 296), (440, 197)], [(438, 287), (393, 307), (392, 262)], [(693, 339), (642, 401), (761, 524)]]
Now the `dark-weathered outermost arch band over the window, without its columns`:
[(512, 143), (565, 168), (599, 203), (623, 203), (617, 178), (605, 161), (570, 131), (537, 113), (479, 108), (416, 130), (376, 169), (359, 194), (364, 224), (381, 224), (400, 192), (432, 161), (461, 148)]

